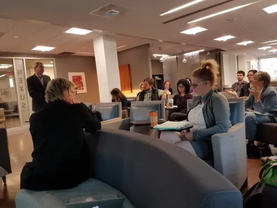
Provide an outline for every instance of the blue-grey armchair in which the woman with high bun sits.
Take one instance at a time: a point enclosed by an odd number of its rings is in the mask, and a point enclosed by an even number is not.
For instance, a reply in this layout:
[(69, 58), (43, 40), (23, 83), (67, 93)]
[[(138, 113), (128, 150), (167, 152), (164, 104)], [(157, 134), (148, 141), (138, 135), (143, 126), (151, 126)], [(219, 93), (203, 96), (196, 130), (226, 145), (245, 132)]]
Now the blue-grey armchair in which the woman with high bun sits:
[[(188, 100), (188, 108), (193, 100)], [(237, 188), (247, 183), (244, 99), (229, 98), (232, 127), (212, 136), (213, 161), (206, 161)]]

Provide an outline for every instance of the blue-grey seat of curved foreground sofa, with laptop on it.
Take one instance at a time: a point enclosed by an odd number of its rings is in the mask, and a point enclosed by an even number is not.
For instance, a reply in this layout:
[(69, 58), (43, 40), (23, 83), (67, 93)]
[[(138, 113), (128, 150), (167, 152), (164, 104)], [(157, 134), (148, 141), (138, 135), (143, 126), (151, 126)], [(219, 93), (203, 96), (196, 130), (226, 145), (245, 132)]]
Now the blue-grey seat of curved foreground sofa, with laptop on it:
[(119, 197), (125, 198), (123, 208), (134, 207), (122, 192), (94, 178), (65, 190), (31, 191), (21, 189), (16, 196), (16, 206), (17, 208), (65, 208), (65, 204), (69, 202), (70, 198), (111, 193), (116, 193)]

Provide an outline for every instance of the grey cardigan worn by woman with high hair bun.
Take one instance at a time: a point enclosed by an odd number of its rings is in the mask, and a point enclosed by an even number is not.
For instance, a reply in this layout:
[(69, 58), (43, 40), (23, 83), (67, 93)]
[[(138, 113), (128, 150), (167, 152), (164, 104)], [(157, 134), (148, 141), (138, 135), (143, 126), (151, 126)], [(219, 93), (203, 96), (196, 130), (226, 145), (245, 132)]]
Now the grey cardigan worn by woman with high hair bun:
[[(191, 109), (201, 102), (204, 102), (203, 115), (207, 128), (193, 132), (194, 140), (211, 140), (216, 133), (226, 133), (231, 126), (228, 100), (217, 91), (211, 90), (204, 97), (195, 97)], [(190, 111), (188, 115), (189, 113)]]

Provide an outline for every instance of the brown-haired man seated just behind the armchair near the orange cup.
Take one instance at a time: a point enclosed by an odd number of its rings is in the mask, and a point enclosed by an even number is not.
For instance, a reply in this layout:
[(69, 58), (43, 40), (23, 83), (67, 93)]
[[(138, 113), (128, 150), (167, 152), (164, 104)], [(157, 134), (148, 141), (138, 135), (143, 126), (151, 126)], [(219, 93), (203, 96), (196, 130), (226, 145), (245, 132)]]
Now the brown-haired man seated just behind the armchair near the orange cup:
[(166, 95), (170, 95), (168, 90), (163, 91), (153, 87), (152, 78), (146, 78), (143, 81), (144, 90), (138, 95), (137, 101), (165, 100)]

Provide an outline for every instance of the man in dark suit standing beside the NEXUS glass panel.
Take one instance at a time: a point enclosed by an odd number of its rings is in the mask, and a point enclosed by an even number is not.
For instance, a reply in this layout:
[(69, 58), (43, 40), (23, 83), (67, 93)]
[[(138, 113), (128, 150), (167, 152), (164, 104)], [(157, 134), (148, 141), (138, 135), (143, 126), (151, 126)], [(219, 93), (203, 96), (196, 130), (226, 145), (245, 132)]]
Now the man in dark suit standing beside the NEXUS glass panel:
[(36, 112), (46, 104), (45, 90), (51, 79), (49, 76), (43, 75), (44, 65), (42, 62), (36, 62), (34, 68), (35, 74), (27, 78), (27, 87), (29, 95), (32, 97), (33, 111)]

